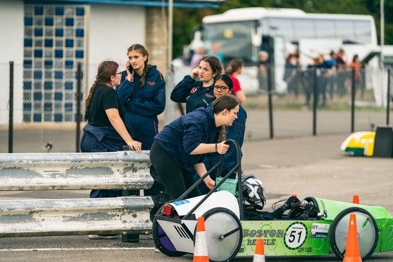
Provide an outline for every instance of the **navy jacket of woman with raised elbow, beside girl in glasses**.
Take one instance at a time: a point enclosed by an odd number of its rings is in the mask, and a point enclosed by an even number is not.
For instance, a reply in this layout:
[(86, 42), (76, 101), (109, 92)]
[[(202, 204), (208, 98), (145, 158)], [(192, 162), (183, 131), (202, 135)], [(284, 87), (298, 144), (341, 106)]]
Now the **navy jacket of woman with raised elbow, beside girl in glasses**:
[(186, 103), (186, 113), (192, 112), (199, 107), (208, 107), (215, 100), (213, 86), (204, 88), (202, 81), (195, 81), (187, 75), (178, 83), (171, 93), (171, 100), (178, 103)]

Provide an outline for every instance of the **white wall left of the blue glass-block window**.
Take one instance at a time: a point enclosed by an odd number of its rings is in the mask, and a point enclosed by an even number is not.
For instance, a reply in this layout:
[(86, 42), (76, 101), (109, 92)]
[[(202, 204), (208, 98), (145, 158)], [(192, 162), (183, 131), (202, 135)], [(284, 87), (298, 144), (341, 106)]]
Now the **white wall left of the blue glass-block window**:
[(0, 125), (8, 124), (9, 62), (14, 62), (14, 123), (22, 122), (23, 1), (0, 1)]

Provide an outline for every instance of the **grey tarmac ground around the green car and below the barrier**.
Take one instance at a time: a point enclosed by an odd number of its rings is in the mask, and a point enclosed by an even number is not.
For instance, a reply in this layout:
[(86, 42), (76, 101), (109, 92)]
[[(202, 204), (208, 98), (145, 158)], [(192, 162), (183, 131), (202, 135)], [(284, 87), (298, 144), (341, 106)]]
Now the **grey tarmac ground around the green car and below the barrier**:
[[(352, 157), (340, 151), (348, 134), (295, 139), (253, 141), (246, 139), (244, 174), (254, 174), (266, 187), (269, 210), (272, 203), (289, 195), (314, 196), (377, 205), (393, 214), (393, 158)], [(85, 198), (88, 191), (2, 192), (11, 198)], [(0, 238), (0, 261), (192, 261), (192, 255), (167, 257), (154, 252), (152, 235), (141, 235), (140, 243), (89, 240), (86, 235)], [(235, 258), (234, 261), (252, 261)], [(272, 257), (266, 261), (339, 261), (335, 256)], [(368, 261), (393, 261), (393, 251), (373, 254)]]

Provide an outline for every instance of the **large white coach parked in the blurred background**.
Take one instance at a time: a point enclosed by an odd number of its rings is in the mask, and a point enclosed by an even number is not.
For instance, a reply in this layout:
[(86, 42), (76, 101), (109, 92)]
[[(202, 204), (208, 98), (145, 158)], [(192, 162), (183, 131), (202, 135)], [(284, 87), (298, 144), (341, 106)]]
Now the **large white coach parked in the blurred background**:
[[(210, 50), (213, 43), (219, 43), (225, 65), (234, 58), (244, 61), (239, 81), (248, 93), (259, 88), (258, 53), (261, 50), (269, 54), (268, 62), (275, 79), (273, 88), (276, 92), (286, 92), (282, 78), (288, 53), (298, 50), (301, 58), (305, 55), (311, 59), (318, 53), (337, 51), (344, 46), (350, 50), (349, 46), (353, 46), (357, 52), (364, 50), (366, 55), (366, 50), (378, 46), (371, 15), (317, 14), (286, 8), (239, 8), (208, 15), (202, 20), (202, 34), (195, 35), (201, 35), (206, 50)], [(301, 46), (307, 41), (314, 45), (309, 54), (305, 54), (307, 51)]]

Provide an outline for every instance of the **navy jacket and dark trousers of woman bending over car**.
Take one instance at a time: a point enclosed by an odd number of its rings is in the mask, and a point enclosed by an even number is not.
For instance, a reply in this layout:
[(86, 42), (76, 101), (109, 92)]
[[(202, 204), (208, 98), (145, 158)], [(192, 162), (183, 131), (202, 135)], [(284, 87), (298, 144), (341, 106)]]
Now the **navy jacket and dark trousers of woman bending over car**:
[[(171, 199), (194, 184), (194, 165), (204, 160), (205, 154), (189, 153), (201, 143), (213, 144), (219, 128), (215, 127), (213, 109), (199, 108), (173, 120), (154, 137), (150, 161)], [(197, 195), (201, 192), (194, 188), (188, 197)]]

